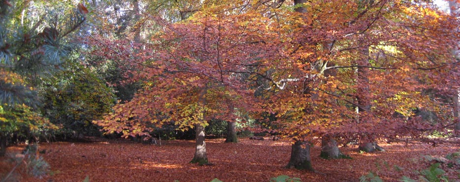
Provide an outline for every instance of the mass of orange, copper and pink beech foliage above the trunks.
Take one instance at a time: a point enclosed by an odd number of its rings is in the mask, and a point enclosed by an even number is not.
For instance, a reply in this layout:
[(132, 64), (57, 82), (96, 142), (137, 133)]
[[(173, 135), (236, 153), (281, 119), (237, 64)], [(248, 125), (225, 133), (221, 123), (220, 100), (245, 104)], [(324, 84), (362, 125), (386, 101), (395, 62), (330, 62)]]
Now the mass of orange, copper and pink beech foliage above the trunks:
[[(274, 114), (271, 131), (306, 141), (418, 136), (455, 122), (441, 102), (459, 86), (459, 22), (428, 0), (205, 1), (187, 20), (152, 19), (164, 28), (142, 44), (88, 39), (93, 54), (124, 62), (126, 82), (143, 84), (94, 121), (107, 133), (244, 121), (231, 105), (261, 122)], [(416, 108), (441, 120), (412, 117)]]

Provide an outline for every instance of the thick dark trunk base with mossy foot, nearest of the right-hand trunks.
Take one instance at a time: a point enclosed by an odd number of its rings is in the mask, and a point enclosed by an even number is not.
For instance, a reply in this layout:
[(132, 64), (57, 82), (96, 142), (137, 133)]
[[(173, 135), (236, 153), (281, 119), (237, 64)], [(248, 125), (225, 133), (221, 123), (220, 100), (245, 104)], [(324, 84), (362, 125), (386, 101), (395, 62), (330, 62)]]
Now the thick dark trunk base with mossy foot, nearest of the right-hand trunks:
[(310, 145), (306, 142), (294, 143), (291, 149), (291, 158), (286, 168), (313, 171), (313, 167), (311, 167)]

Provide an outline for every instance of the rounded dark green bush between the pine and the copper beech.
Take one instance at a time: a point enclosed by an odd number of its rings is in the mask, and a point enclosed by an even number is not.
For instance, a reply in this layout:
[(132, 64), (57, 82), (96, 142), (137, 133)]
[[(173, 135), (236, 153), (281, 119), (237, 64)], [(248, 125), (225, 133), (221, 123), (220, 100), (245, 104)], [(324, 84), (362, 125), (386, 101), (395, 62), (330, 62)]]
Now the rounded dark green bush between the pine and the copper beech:
[(79, 62), (67, 61), (61, 66), (65, 70), (43, 79), (46, 86), (41, 91), (42, 113), (52, 123), (62, 126), (55, 135), (63, 138), (100, 135), (100, 128), (92, 121), (112, 111), (115, 104), (112, 90)]

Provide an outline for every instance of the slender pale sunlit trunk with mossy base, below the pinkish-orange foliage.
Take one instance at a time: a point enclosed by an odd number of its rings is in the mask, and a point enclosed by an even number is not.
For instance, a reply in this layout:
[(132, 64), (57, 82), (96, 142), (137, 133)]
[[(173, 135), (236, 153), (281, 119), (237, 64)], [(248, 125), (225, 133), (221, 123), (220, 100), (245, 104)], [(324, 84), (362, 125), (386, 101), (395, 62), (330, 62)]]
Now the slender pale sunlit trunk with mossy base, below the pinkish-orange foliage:
[(196, 148), (195, 155), (193, 156), (190, 163), (198, 163), (200, 165), (209, 164), (208, 156), (206, 155), (206, 143), (205, 143), (205, 128), (201, 124), (195, 125), (196, 131)]

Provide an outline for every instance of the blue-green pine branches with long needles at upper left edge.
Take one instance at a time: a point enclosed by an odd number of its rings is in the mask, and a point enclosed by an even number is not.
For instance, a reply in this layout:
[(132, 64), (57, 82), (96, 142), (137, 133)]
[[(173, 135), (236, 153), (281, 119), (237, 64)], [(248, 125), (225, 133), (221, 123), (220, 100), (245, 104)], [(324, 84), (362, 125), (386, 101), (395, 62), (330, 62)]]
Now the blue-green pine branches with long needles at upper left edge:
[[(85, 6), (78, 4), (71, 12), (54, 8), (37, 15), (37, 4), (0, 0), (0, 74), (5, 77), (0, 80), (2, 106), (39, 104), (31, 81), (61, 64), (72, 52), (69, 35), (81, 27), (88, 13)], [(29, 83), (7, 79), (15, 75)]]

